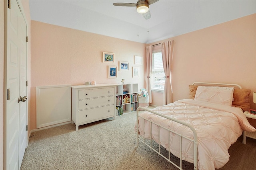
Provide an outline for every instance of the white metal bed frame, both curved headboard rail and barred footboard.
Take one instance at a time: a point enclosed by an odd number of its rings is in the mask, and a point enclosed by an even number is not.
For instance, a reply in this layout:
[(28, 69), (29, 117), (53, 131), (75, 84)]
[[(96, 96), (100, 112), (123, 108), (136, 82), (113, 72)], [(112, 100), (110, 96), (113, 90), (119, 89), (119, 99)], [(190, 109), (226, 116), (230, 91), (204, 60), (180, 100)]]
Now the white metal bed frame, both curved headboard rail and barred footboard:
[[(225, 83), (208, 83), (208, 82), (194, 82), (192, 85), (195, 85), (195, 84), (198, 84), (198, 85), (204, 85), (204, 86), (225, 86), (225, 87), (234, 87), (234, 88), (242, 88), (240, 85), (238, 84), (225, 84)], [(155, 123), (153, 121), (150, 121), (149, 119), (146, 119), (144, 117), (141, 117), (139, 115), (139, 110), (144, 110), (144, 111), (149, 111), (150, 113), (154, 113), (156, 115), (159, 115), (159, 116), (162, 116), (166, 119), (169, 119), (171, 121), (175, 121), (177, 123), (180, 123), (182, 125), (185, 125), (187, 127), (189, 127), (193, 134), (194, 134), (194, 140), (180, 134), (180, 133), (177, 133), (177, 132), (174, 132), (166, 127), (163, 127), (161, 126), (160, 124), (158, 123)], [(198, 140), (197, 140), (197, 133), (196, 133), (196, 130), (194, 129), (194, 127), (192, 127), (192, 125), (188, 124), (188, 123), (185, 123), (185, 122), (182, 122), (182, 121), (179, 121), (177, 119), (173, 119), (171, 117), (168, 117), (166, 115), (163, 115), (161, 113), (157, 113), (156, 111), (152, 111), (150, 109), (146, 109), (144, 107), (138, 107), (137, 108), (137, 113), (136, 113), (136, 132), (137, 132), (137, 135), (136, 135), (136, 140), (137, 140), (137, 147), (139, 145), (139, 141), (141, 141), (142, 143), (144, 143), (146, 146), (150, 147), (150, 149), (154, 150), (156, 153), (158, 153), (160, 156), (162, 156), (163, 158), (165, 158), (166, 160), (168, 160), (168, 162), (172, 163), (174, 166), (176, 166), (177, 168), (179, 168), (180, 170), (182, 170), (182, 138), (186, 138), (188, 139), (189, 141), (192, 141), (194, 143), (194, 170), (198, 170), (198, 154), (197, 154), (197, 151), (198, 151)], [(145, 120), (150, 122), (150, 145), (148, 145), (146, 142), (145, 142), (145, 136), (143, 134), (143, 139), (140, 139), (139, 138), (139, 117), (141, 117), (145, 123)], [(158, 144), (158, 150), (152, 148), (152, 124), (154, 125), (157, 125), (158, 126), (158, 141), (159, 141), (159, 144)], [(143, 128), (145, 129), (145, 126), (143, 125)], [(166, 129), (168, 132), (168, 146), (170, 147), (170, 132), (172, 133), (175, 133), (176, 135), (179, 135), (180, 136), (180, 166), (176, 165), (174, 162), (172, 162), (170, 160), (170, 149), (168, 148), (168, 158), (166, 158), (166, 156), (164, 156), (163, 154), (160, 153), (160, 128), (164, 128)], [(143, 129), (143, 131), (144, 131)], [(154, 140), (153, 140), (154, 141)]]

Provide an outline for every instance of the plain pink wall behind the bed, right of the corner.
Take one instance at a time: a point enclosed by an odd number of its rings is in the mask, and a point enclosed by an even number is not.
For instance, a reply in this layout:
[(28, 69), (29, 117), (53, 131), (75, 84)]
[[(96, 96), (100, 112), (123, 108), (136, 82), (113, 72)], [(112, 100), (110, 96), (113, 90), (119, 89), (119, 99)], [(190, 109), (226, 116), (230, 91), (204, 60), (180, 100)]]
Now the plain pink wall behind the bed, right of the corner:
[[(240, 84), (256, 91), (256, 14), (170, 39), (174, 101), (188, 98), (188, 85), (196, 81)], [(156, 94), (152, 98), (159, 103), (162, 94)], [(251, 107), (256, 109), (256, 104)]]

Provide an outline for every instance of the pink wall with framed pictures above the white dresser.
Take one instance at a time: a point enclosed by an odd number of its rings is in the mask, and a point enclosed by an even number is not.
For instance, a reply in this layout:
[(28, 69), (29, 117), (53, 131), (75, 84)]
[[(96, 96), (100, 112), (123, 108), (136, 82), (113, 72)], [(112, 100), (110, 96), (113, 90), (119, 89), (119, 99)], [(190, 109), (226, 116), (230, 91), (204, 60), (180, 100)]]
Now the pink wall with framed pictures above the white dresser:
[[(36, 129), (36, 86), (138, 83), (144, 87), (144, 66), (140, 78), (132, 78), (134, 55), (145, 57), (143, 43), (126, 41), (66, 27), (31, 21), (31, 114), (30, 127)], [(102, 53), (115, 54), (114, 63), (103, 63)], [(118, 71), (118, 78), (108, 78), (108, 65), (129, 62), (129, 71)]]

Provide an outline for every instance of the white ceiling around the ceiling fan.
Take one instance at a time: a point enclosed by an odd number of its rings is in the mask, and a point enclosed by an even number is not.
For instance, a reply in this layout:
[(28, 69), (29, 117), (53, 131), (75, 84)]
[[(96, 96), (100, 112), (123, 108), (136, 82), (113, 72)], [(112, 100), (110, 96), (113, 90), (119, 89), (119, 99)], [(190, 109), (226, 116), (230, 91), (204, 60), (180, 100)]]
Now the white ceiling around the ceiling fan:
[[(137, 0), (30, 0), (31, 20), (152, 43), (256, 13), (256, 0), (159, 0), (145, 20)], [(149, 31), (149, 32), (148, 32)]]

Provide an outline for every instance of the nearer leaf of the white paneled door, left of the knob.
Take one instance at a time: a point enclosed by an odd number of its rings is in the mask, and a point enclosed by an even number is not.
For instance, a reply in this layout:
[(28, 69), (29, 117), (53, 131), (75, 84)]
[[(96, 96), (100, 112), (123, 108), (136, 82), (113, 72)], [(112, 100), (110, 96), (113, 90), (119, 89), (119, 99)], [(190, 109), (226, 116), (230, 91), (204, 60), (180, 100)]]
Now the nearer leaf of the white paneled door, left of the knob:
[(9, 100), (6, 102), (6, 170), (19, 167), (19, 57), (18, 57), (18, 18), (16, 3), (7, 10), (7, 89)]

